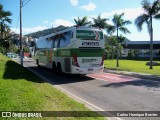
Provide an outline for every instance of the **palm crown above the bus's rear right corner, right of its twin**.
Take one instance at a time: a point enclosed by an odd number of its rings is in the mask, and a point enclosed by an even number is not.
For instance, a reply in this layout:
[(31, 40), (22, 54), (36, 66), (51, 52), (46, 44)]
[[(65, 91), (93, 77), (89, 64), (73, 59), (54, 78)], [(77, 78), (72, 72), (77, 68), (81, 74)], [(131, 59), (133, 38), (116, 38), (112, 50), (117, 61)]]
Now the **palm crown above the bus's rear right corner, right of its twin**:
[(107, 27), (107, 18), (101, 18), (101, 15), (98, 15), (97, 18), (93, 18), (93, 27), (99, 27), (100, 29), (105, 29)]

